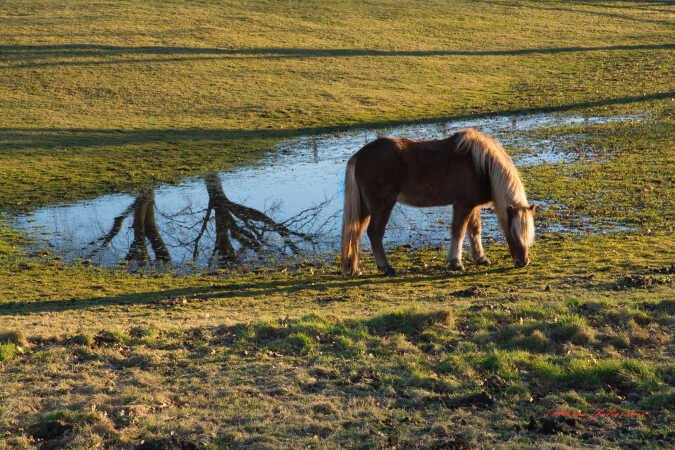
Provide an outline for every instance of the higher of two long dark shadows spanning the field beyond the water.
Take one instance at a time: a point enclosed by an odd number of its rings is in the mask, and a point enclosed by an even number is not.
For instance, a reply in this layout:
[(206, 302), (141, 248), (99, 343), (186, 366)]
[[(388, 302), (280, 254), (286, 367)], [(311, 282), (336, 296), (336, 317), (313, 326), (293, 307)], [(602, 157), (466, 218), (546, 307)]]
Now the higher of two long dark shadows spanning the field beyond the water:
[[(137, 64), (155, 62), (181, 62), (198, 60), (225, 59), (306, 59), (340, 57), (428, 57), (428, 56), (519, 56), (537, 54), (558, 54), (593, 51), (630, 51), (630, 50), (668, 50), (675, 43), (608, 45), (598, 47), (545, 47), (509, 50), (377, 50), (377, 49), (315, 49), (264, 47), (251, 49), (200, 48), (200, 47), (162, 47), (162, 46), (115, 46), (99, 44), (63, 44), (63, 45), (3, 45), (0, 46), (0, 61), (10, 63), (0, 65), (1, 69), (27, 69), (49, 66), (92, 66), (111, 64)], [(163, 56), (144, 58), (143, 56)], [(199, 55), (199, 56), (197, 56)], [(126, 58), (120, 58), (125, 56)], [(129, 58), (132, 57), (132, 58)], [(99, 60), (41, 61), (51, 58), (110, 58)], [(32, 62), (38, 60), (39, 62)], [(19, 61), (17, 64), (11, 64)], [(31, 61), (31, 62), (25, 62)]]

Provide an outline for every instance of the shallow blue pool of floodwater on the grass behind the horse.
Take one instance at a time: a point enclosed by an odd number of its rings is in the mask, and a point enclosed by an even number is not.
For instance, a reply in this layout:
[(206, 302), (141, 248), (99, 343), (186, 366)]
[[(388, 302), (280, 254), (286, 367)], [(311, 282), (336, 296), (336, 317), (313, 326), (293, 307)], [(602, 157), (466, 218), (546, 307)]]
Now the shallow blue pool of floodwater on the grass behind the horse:
[[(135, 195), (40, 208), (14, 223), (32, 233), (40, 248), (69, 261), (81, 258), (106, 266), (256, 266), (330, 258), (339, 248), (347, 159), (378, 136), (439, 139), (473, 127), (496, 137), (522, 167), (589, 156), (576, 148), (578, 136), (539, 139), (530, 131), (619, 120), (640, 118), (535, 114), (302, 137), (283, 142), (256, 167), (211, 173)], [(446, 245), (451, 217), (451, 207), (396, 205), (385, 244)], [(501, 240), (489, 209), (483, 212), (483, 233), (488, 240)], [(363, 244), (368, 248), (365, 237)]]

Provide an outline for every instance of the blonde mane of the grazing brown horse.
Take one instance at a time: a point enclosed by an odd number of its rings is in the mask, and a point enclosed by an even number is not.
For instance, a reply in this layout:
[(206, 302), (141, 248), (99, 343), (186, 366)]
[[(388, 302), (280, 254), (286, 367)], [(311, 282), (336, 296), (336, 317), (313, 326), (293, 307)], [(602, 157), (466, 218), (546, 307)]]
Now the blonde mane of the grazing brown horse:
[[(490, 136), (467, 128), (457, 132), (459, 135), (458, 151), (470, 151), (476, 172), (490, 177), (492, 202), (504, 231), (508, 230), (507, 207), (528, 206), (525, 189), (518, 176), (518, 170), (506, 154), (504, 148)], [(522, 229), (524, 242), (534, 239), (531, 227)], [(520, 231), (520, 230), (519, 230)]]

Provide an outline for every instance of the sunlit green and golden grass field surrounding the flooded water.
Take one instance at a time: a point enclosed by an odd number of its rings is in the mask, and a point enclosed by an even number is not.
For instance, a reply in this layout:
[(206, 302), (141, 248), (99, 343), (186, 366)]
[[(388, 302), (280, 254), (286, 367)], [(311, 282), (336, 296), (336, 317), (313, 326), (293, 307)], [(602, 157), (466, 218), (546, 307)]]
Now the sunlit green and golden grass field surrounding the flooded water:
[(399, 248), (393, 278), (129, 274), (28, 256), (0, 216), (0, 448), (672, 447), (674, 25), (666, 1), (0, 2), (8, 213), (300, 134), (644, 117), (536, 131), (581, 136), (522, 171), (537, 220), (626, 231), (538, 236), (519, 270), (491, 244), (463, 273)]

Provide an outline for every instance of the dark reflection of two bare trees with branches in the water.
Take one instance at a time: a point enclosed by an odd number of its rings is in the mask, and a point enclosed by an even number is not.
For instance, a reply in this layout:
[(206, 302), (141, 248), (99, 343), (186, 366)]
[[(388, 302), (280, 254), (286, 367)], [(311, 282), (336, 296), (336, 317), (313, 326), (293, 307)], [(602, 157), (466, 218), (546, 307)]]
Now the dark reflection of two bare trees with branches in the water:
[[(328, 201), (324, 201), (278, 222), (264, 212), (231, 201), (225, 195), (217, 173), (207, 174), (204, 182), (208, 194), (206, 210), (195, 211), (190, 206), (177, 213), (166, 214), (156, 207), (153, 191), (139, 192), (134, 202), (114, 218), (110, 231), (90, 243), (90, 246), (96, 246), (90, 257), (110, 245), (122, 231), (129, 216), (133, 217), (133, 236), (125, 260), (138, 267), (151, 262), (158, 265), (170, 263), (172, 258), (169, 247), (182, 248), (183, 251), (189, 248), (192, 263), (206, 260), (204, 262), (211, 267), (243, 263), (251, 254), (258, 258), (297, 255), (301, 251), (311, 250), (316, 244), (318, 231), (330, 220), (336, 220), (331, 216), (321, 226), (316, 226), (321, 211), (328, 204)], [(156, 211), (159, 222), (155, 217)], [(162, 235), (170, 241), (169, 246)], [(205, 237), (213, 239), (209, 239), (213, 242), (212, 247), (204, 244)], [(154, 260), (148, 251), (148, 242)]]

